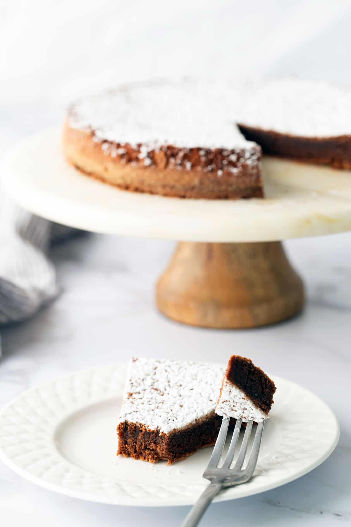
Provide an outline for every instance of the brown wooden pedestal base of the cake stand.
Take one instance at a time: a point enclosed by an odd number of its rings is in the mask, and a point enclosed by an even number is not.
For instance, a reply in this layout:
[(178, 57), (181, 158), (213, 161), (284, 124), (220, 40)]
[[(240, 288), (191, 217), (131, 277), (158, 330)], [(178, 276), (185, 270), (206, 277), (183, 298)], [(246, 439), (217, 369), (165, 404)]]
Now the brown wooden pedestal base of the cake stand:
[(282, 243), (178, 243), (158, 280), (158, 309), (185, 324), (247, 328), (292, 317), (303, 282)]

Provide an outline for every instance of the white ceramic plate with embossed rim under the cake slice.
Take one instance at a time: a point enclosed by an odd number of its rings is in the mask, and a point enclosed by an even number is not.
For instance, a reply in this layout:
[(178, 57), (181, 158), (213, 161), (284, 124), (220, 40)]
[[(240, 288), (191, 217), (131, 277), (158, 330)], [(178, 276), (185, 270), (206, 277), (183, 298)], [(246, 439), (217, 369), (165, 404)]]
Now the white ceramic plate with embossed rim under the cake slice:
[[(29, 481), (84, 500), (187, 505), (206, 482), (211, 448), (171, 466), (116, 458), (116, 423), (126, 364), (83, 370), (19, 395), (0, 414), (0, 457)], [(249, 496), (296, 479), (333, 452), (339, 425), (305, 388), (273, 376), (275, 404), (253, 479), (215, 501)]]

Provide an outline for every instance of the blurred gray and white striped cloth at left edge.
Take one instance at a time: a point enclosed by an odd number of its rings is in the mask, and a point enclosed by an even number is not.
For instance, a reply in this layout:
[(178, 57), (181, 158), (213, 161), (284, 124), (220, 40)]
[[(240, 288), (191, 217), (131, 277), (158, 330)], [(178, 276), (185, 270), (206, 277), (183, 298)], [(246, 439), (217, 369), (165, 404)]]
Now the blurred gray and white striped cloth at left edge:
[[(0, 326), (31, 317), (58, 294), (50, 245), (79, 231), (34, 216), (2, 194)], [(1, 339), (0, 339), (1, 355)]]

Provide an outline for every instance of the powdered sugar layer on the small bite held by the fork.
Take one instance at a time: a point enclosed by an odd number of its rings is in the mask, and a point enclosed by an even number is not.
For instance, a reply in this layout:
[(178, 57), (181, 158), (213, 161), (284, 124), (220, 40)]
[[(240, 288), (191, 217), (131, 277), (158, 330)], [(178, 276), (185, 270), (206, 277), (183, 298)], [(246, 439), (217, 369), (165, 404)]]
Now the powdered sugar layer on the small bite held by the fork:
[(216, 406), (216, 414), (242, 419), (244, 423), (248, 421), (259, 423), (268, 418), (268, 414), (257, 408), (240, 388), (227, 379), (223, 382), (222, 393)]

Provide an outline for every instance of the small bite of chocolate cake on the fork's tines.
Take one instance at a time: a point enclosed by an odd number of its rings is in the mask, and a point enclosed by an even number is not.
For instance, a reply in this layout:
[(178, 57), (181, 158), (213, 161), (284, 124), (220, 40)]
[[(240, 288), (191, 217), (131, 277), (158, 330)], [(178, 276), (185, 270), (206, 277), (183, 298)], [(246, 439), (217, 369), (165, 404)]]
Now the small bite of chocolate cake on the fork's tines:
[(259, 423), (268, 418), (276, 387), (252, 360), (232, 355), (226, 369), (216, 414)]

